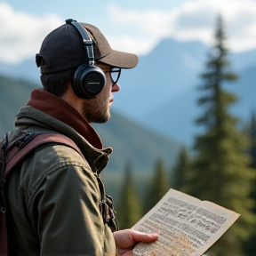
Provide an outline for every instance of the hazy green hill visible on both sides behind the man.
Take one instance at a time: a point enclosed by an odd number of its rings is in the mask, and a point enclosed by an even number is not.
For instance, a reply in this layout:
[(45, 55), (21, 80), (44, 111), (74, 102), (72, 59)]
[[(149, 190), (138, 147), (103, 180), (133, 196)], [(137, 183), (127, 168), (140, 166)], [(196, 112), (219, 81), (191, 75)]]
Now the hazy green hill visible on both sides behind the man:
[[(38, 87), (28, 81), (0, 76), (0, 137), (13, 129), (15, 116), (29, 99), (31, 88)], [(157, 158), (171, 167), (180, 150), (180, 143), (140, 126), (115, 111), (111, 112), (107, 124), (93, 125), (103, 141), (104, 147), (111, 146), (108, 171), (122, 171), (130, 161), (136, 172), (153, 171)]]

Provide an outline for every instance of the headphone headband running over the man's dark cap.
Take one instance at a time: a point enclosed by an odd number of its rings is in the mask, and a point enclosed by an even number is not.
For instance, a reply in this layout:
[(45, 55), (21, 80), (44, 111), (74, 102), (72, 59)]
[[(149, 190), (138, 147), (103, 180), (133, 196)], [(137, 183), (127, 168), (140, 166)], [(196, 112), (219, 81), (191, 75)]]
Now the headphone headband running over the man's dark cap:
[(65, 21), (67, 24), (73, 25), (78, 30), (80, 35), (82, 36), (84, 47), (85, 47), (85, 50), (86, 50), (87, 56), (88, 56), (89, 65), (94, 65), (93, 42), (92, 42), (91, 36), (86, 31), (86, 29), (80, 23), (78, 23), (76, 20), (68, 19)]

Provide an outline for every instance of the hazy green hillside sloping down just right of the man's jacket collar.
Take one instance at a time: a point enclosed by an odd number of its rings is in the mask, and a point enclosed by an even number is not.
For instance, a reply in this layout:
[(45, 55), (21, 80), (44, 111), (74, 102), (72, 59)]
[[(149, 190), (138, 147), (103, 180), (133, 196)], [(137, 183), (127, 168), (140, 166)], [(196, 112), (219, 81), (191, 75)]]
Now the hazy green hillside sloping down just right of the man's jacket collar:
[(93, 124), (104, 146), (114, 148), (113, 158), (110, 157), (109, 168), (120, 170), (128, 161), (135, 171), (152, 171), (157, 158), (164, 160), (170, 167), (176, 160), (180, 143), (168, 139), (157, 132), (152, 132), (134, 121), (112, 111), (106, 124)]

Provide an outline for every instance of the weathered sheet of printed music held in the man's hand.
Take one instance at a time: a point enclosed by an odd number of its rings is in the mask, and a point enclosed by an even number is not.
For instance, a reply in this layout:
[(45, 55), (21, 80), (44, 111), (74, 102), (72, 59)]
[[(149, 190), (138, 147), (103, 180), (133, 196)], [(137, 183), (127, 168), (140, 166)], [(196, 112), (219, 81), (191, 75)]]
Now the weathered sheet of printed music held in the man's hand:
[(136, 255), (202, 255), (236, 221), (239, 214), (170, 189), (132, 229), (157, 233), (155, 243), (137, 244)]

